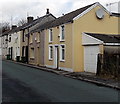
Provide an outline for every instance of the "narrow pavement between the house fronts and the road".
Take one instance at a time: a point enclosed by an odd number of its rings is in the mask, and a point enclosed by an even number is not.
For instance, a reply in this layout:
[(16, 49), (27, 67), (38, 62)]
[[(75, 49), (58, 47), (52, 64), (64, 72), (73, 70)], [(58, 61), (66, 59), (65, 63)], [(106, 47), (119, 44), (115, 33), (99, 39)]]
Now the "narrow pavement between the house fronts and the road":
[(36, 65), (11, 61), (11, 60), (6, 60), (6, 61), (14, 62), (14, 63), (20, 64), (20, 65), (25, 65), (27, 67), (36, 68), (36, 69), (39, 69), (39, 70), (44, 70), (44, 71), (47, 71), (47, 72), (52, 72), (52, 73), (55, 73), (55, 74), (58, 74), (58, 75), (63, 75), (63, 76), (70, 77), (70, 78), (73, 78), (73, 79), (94, 83), (98, 86), (106, 86), (106, 87), (110, 87), (110, 88), (113, 88), (113, 89), (120, 90), (120, 81), (116, 81), (116, 80), (113, 80), (113, 79), (108, 80), (108, 79), (100, 78), (99, 76), (96, 76), (93, 73), (68, 72), (68, 71), (64, 71), (64, 70), (41, 67), (41, 66), (36, 66)]

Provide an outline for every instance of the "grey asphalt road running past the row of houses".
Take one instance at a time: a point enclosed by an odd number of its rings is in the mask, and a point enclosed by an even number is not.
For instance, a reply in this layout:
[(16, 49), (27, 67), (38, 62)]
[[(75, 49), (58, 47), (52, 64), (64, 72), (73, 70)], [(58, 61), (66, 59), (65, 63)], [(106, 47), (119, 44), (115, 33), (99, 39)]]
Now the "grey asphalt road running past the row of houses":
[(2, 62), (3, 102), (118, 102), (118, 91), (31, 67)]

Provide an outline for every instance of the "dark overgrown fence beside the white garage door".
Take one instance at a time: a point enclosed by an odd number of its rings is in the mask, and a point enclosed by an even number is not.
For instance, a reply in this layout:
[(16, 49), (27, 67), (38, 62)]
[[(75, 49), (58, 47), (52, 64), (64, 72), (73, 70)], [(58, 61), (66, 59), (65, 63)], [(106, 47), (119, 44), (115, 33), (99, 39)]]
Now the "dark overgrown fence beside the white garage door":
[(98, 55), (97, 75), (120, 76), (120, 54)]

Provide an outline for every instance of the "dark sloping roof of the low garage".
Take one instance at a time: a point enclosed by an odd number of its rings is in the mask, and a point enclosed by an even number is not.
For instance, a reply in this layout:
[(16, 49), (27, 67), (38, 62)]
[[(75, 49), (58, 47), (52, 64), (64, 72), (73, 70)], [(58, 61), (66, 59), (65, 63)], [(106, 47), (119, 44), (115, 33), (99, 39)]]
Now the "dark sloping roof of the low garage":
[(104, 43), (120, 43), (120, 34), (98, 34), (98, 33), (85, 33), (94, 38), (97, 38)]

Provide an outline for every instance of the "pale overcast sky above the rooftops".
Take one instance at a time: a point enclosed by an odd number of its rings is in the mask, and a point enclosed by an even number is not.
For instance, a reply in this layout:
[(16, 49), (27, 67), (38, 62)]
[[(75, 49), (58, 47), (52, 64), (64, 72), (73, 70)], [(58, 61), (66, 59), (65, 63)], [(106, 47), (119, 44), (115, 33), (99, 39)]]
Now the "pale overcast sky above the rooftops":
[(16, 24), (20, 19), (26, 19), (27, 15), (43, 16), (46, 14), (46, 8), (56, 17), (62, 16), (83, 6), (100, 2), (108, 10), (118, 11), (118, 2), (120, 0), (0, 0), (0, 22), (11, 22)]

